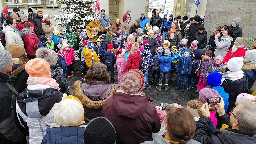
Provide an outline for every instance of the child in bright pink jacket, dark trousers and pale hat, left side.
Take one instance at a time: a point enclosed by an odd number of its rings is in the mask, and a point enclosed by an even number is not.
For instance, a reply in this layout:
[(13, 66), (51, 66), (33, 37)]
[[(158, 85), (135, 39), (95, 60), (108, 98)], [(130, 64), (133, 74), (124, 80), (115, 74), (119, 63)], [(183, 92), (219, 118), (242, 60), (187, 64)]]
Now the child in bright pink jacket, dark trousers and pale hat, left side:
[(72, 47), (69, 47), (67, 42), (62, 42), (63, 45), (63, 51), (65, 52), (65, 59), (67, 64), (67, 73), (66, 77), (71, 78), (74, 73), (74, 66), (73, 66), (73, 60), (76, 59), (74, 49)]

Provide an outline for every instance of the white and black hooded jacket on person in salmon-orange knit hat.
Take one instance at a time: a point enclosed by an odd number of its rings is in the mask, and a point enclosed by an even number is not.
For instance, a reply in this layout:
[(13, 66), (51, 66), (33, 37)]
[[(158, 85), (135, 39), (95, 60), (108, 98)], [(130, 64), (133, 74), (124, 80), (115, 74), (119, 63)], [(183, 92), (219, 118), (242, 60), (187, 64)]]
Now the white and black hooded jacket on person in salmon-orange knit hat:
[[(28, 88), (19, 94), (16, 110), (20, 115), (19, 120), (26, 122), (29, 127), (30, 144), (41, 144), (46, 133), (46, 126), (38, 118), (42, 118), (46, 124), (55, 123), (53, 115), (56, 107), (66, 96), (47, 85), (28, 85)], [(27, 108), (32, 105), (33, 108)]]

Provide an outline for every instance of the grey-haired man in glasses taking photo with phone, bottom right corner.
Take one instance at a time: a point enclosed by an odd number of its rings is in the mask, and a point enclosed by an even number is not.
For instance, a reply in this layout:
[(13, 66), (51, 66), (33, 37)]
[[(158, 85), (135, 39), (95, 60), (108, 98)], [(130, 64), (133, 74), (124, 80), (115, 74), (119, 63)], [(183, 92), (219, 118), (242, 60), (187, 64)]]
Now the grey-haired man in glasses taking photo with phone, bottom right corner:
[[(195, 139), (202, 144), (255, 144), (256, 143), (256, 104), (245, 102), (232, 108), (230, 117), (225, 113), (224, 101), (221, 98), (220, 103), (215, 105), (218, 113), (217, 130), (212, 134), (208, 133), (210, 125), (209, 105), (203, 104), (200, 109), (202, 116), (199, 118), (195, 132)], [(221, 129), (221, 125), (229, 126)]]

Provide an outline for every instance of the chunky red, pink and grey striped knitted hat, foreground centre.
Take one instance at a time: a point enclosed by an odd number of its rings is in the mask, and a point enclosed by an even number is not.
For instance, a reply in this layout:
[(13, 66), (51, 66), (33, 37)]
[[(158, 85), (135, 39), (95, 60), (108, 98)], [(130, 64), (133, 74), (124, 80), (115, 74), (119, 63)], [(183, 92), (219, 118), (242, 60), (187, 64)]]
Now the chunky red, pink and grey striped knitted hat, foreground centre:
[(122, 77), (119, 86), (129, 94), (138, 94), (142, 93), (144, 83), (144, 74), (139, 69), (131, 69)]

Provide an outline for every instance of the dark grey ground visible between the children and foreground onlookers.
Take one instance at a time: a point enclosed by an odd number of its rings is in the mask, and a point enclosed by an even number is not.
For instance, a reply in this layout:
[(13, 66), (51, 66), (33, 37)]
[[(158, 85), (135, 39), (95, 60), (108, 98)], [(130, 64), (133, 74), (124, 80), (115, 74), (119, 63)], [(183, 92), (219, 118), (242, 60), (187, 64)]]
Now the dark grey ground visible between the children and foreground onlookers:
[[(77, 60), (75, 63), (73, 63), (73, 65), (74, 65), (74, 72), (75, 72), (74, 76), (67, 79), (68, 85), (70, 86), (70, 88), (72, 88), (76, 80), (81, 80), (83, 78), (83, 74), (79, 73), (81, 69), (81, 62)], [(151, 75), (152, 75), (152, 72), (148, 74), (149, 76), (148, 81), (150, 81)], [(118, 77), (118, 74), (115, 73), (115, 80), (117, 80), (117, 77)], [(195, 88), (192, 91), (185, 90), (185, 92), (181, 92), (180, 89), (175, 90), (174, 88), (175, 86), (169, 85), (169, 89), (167, 91), (163, 89), (159, 91), (156, 89), (156, 85), (152, 85), (150, 88), (144, 89), (143, 92), (153, 100), (153, 103), (156, 106), (160, 106), (161, 102), (178, 103), (180, 105), (185, 106), (189, 101), (190, 94), (195, 95), (196, 98), (199, 97), (198, 94), (195, 93), (195, 90), (196, 90)]]

